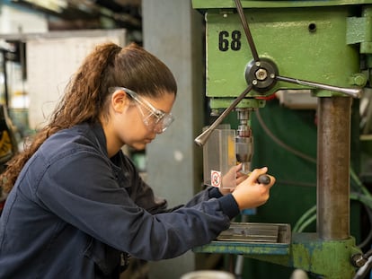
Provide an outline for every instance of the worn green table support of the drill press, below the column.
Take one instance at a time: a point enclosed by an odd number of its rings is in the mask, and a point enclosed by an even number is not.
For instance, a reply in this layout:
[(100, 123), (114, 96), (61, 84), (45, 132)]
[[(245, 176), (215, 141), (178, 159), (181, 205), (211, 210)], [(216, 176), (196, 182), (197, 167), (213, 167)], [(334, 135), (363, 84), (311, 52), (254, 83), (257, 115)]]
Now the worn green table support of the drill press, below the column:
[(350, 258), (361, 253), (354, 238), (320, 240), (316, 233), (294, 233), (290, 245), (212, 241), (194, 248), (199, 253), (244, 255), (280, 266), (300, 268), (323, 279), (346, 279), (355, 275)]

